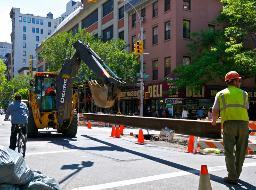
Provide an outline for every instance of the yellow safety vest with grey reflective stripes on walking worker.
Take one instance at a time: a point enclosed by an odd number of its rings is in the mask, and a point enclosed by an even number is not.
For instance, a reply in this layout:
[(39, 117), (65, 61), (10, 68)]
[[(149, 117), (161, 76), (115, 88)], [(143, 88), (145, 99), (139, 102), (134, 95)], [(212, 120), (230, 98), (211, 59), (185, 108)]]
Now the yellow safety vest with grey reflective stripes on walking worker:
[(220, 101), (220, 117), (221, 123), (224, 124), (227, 120), (248, 121), (246, 105), (248, 104), (247, 92), (235, 87), (228, 88), (217, 93)]

